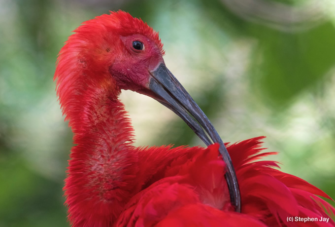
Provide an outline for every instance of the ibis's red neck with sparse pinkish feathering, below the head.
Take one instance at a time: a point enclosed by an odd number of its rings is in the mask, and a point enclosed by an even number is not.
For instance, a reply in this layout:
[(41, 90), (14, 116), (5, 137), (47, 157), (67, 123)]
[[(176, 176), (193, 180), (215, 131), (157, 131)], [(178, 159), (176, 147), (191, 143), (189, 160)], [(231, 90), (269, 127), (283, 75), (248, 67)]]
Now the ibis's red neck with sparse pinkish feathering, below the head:
[[(74, 143), (65, 194), (74, 226), (110, 226), (140, 186), (133, 128), (124, 105), (104, 90), (91, 91), (72, 120)], [(79, 108), (79, 107), (78, 107)]]

